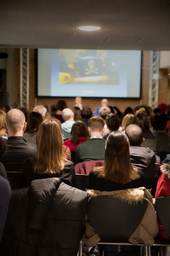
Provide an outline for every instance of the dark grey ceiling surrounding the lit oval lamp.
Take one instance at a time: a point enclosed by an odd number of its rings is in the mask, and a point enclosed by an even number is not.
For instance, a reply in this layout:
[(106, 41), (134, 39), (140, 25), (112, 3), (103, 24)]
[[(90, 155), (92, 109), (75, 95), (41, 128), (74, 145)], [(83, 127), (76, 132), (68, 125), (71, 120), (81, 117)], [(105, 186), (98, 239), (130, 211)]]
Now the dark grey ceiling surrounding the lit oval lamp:
[(0, 47), (170, 50), (169, 0), (0, 0)]

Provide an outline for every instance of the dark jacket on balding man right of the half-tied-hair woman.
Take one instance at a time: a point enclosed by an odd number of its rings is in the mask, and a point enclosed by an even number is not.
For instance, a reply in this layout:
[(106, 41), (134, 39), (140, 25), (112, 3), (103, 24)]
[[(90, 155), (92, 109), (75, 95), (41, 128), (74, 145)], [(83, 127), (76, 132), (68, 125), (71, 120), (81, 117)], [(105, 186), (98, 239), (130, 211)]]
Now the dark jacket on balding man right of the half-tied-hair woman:
[(149, 148), (130, 146), (130, 161), (133, 167), (142, 171), (145, 179), (157, 180), (159, 157)]

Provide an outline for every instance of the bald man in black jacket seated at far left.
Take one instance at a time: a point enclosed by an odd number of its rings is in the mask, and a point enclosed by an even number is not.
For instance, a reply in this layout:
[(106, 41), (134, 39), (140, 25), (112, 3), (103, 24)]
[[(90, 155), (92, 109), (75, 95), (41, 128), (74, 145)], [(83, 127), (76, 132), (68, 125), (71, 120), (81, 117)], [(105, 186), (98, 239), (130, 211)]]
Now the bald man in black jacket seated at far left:
[(23, 132), (26, 129), (25, 116), (19, 109), (11, 109), (5, 118), (7, 150), (1, 159), (6, 172), (21, 172), (23, 161), (36, 155), (36, 146), (26, 143)]

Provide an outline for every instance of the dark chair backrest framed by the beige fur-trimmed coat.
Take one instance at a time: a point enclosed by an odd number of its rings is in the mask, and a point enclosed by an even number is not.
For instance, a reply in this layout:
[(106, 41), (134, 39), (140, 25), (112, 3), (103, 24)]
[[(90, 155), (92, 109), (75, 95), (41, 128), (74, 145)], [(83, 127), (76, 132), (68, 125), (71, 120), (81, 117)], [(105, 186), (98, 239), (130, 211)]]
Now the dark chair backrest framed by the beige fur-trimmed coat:
[(113, 196), (98, 196), (89, 200), (87, 216), (101, 241), (127, 242), (146, 208), (146, 200), (128, 204)]

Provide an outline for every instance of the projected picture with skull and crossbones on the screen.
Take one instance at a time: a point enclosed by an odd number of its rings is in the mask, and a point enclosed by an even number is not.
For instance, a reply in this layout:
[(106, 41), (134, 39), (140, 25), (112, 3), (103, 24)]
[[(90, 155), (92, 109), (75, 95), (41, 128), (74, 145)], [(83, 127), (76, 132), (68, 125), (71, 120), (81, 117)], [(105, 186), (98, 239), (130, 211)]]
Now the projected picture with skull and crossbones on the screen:
[(59, 49), (59, 84), (119, 84), (119, 54)]

